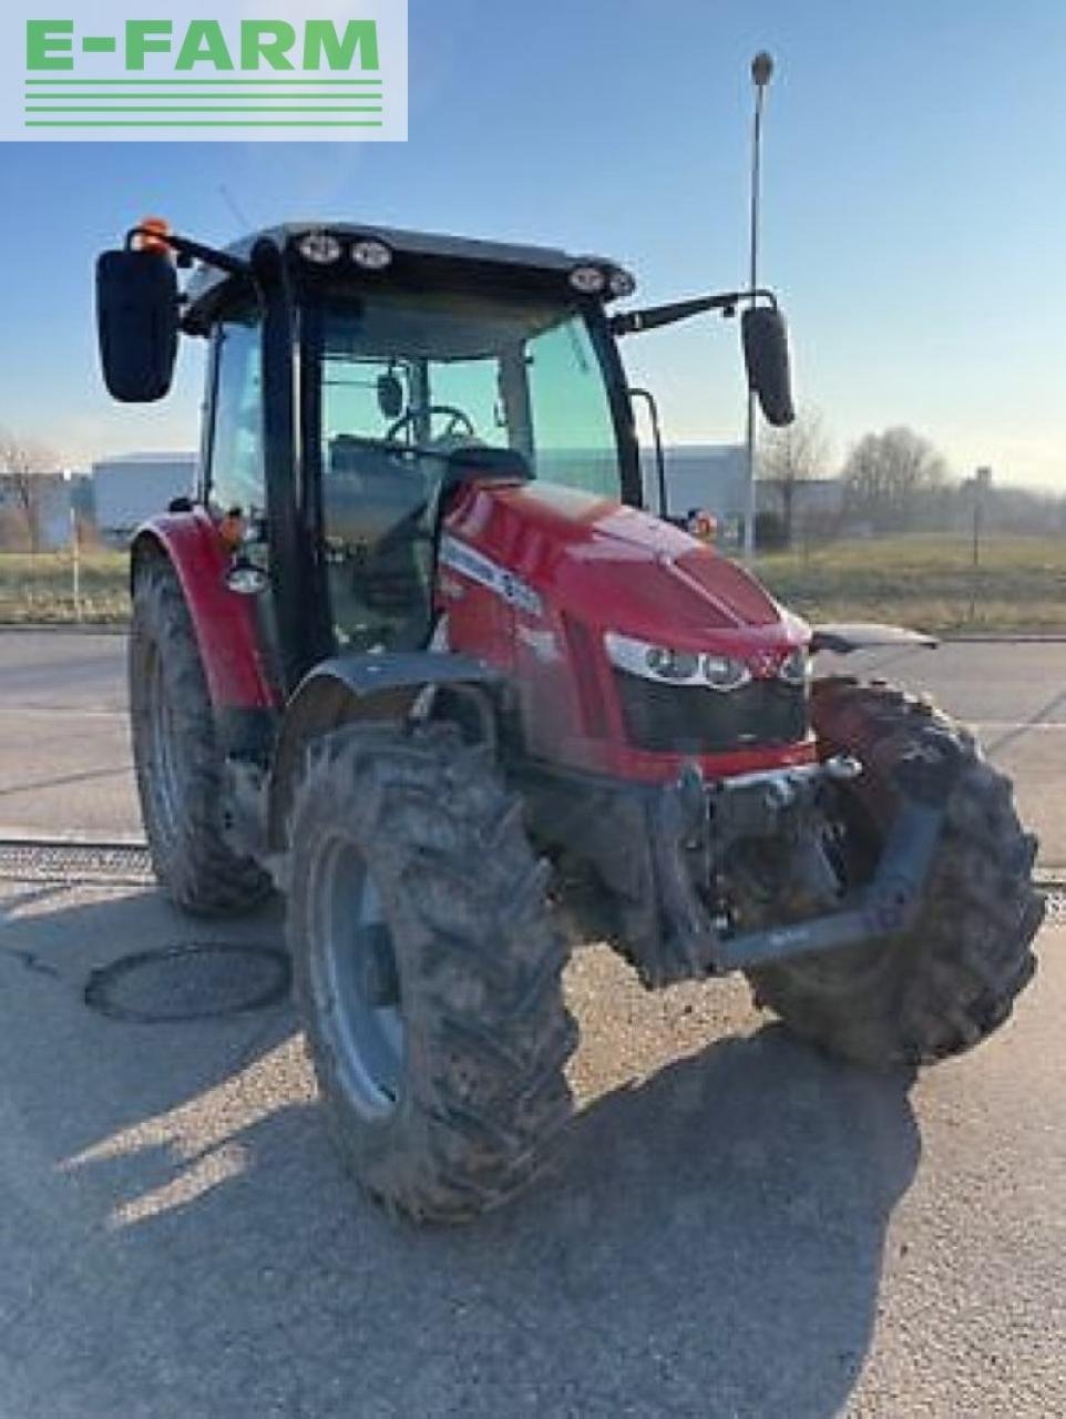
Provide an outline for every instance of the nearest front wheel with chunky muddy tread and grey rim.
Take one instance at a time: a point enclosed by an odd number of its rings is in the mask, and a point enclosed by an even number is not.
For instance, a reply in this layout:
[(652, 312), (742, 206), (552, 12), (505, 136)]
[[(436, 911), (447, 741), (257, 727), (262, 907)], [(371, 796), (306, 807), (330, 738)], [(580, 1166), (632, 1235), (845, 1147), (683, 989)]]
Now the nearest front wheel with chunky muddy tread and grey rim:
[(347, 1169), (391, 1213), (507, 1200), (571, 1111), (566, 946), (522, 807), (448, 725), (316, 741), (291, 820), (306, 1047)]

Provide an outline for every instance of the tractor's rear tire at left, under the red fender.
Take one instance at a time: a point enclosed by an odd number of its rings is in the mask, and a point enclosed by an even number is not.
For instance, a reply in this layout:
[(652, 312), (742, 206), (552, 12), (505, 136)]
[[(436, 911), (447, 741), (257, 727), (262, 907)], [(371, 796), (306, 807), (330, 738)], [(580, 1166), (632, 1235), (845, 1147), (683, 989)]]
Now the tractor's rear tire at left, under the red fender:
[(249, 911), (269, 877), (223, 836), (224, 762), (181, 583), (164, 558), (133, 586), (129, 705), (140, 815), (167, 895), (197, 915)]

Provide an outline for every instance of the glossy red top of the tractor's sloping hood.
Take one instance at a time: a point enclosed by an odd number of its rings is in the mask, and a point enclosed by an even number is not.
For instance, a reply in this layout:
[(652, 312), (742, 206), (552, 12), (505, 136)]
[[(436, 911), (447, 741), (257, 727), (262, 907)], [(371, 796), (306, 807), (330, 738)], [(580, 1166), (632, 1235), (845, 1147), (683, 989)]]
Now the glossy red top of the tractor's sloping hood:
[[(668, 522), (550, 482), (468, 488), (448, 518), (459, 543), (566, 612), (679, 650), (802, 646), (809, 629), (747, 572)], [(523, 602), (520, 596), (517, 604)]]

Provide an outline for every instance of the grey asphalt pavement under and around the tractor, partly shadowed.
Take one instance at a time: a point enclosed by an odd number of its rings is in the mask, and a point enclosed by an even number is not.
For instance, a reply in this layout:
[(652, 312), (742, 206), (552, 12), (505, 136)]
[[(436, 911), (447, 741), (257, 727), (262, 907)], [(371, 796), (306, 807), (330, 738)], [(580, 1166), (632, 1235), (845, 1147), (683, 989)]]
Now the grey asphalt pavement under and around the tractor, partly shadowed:
[[(886, 660), (984, 724), (1055, 834), (1066, 646)], [(120, 664), (118, 639), (0, 636), (0, 823), (136, 832)], [(648, 995), (583, 951), (557, 1165), (418, 1230), (343, 1176), (286, 1002), (86, 1005), (129, 952), (278, 946), (278, 910), (197, 922), (75, 878), (0, 881), (1, 1419), (1066, 1413), (1060, 927), (1015, 1020), (916, 1080), (821, 1059), (740, 982)], [(254, 983), (206, 962), (125, 1000)]]

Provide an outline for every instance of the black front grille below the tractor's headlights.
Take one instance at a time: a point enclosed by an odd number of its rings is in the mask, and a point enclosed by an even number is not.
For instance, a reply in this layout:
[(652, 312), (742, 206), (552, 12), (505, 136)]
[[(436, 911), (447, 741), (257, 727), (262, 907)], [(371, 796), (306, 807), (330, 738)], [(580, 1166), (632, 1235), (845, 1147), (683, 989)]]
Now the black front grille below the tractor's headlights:
[(653, 753), (729, 753), (807, 736), (802, 685), (750, 680), (740, 690), (663, 685), (615, 670), (627, 738)]

